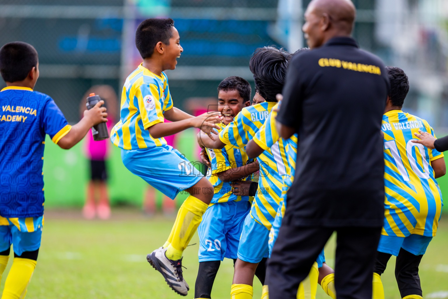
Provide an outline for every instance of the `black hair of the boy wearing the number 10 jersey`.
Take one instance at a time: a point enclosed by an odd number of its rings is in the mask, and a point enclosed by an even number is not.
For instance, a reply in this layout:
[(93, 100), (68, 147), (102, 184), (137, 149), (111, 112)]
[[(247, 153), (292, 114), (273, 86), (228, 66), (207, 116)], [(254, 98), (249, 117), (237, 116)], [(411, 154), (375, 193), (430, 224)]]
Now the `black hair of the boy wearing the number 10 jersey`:
[(405, 71), (396, 66), (386, 66), (391, 89), (389, 90), (389, 100), (392, 105), (402, 107), (405, 97), (409, 92), (409, 80)]

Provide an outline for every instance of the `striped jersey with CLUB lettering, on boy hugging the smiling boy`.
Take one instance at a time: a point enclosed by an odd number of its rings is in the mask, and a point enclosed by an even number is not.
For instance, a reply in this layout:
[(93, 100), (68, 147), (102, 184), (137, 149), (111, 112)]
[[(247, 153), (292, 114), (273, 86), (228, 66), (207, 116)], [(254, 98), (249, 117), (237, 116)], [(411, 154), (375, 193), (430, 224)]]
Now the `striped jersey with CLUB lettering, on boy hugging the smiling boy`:
[[(263, 102), (245, 107), (237, 114), (234, 121), (219, 134), (220, 140), (233, 147), (244, 148), (268, 118), (275, 102)], [(282, 175), (286, 173), (284, 144), (265, 150), (257, 160), (260, 165), (258, 191), (255, 195), (250, 215), (256, 221), (271, 229), (276, 217), (280, 194), (283, 186)]]

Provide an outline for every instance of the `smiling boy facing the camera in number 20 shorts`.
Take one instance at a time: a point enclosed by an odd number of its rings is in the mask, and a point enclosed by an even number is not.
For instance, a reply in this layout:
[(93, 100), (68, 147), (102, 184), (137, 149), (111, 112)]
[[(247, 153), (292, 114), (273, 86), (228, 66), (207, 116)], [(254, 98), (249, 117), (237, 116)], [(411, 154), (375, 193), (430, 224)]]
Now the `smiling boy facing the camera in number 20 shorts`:
[[(250, 84), (241, 77), (228, 77), (218, 86), (218, 111), (224, 117), (219, 124), (224, 128), (243, 107), (250, 106)], [(202, 135), (202, 136), (201, 136)], [(208, 139), (198, 133), (198, 139)], [(211, 162), (207, 177), (214, 187), (214, 196), (198, 227), (199, 269), (194, 298), (211, 298), (211, 289), (224, 257), (236, 260), (244, 219), (250, 210), (249, 196), (234, 195), (230, 183), (246, 181), (258, 171), (258, 163), (251, 163), (244, 148), (231, 145), (223, 149), (206, 148)], [(250, 182), (250, 181), (249, 181)], [(255, 273), (264, 282), (264, 267)]]

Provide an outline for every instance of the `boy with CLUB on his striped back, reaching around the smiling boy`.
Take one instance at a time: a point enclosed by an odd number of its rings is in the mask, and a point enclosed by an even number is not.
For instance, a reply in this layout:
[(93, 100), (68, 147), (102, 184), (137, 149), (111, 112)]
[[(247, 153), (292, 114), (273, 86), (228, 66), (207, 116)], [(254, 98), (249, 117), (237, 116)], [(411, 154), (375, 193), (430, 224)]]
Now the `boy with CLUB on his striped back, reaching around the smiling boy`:
[[(232, 145), (244, 148), (263, 125), (272, 107), (276, 105), (276, 94), (281, 92), (291, 53), (283, 49), (264, 47), (255, 50), (250, 59), (250, 70), (254, 74), (255, 87), (266, 101), (245, 107), (235, 120), (224, 128), (219, 139), (202, 139), (209, 148)], [(281, 175), (285, 172), (284, 146), (277, 144), (265, 151), (257, 160), (260, 165), (258, 191), (247, 215), (235, 263), (231, 296), (233, 299), (248, 299), (253, 295), (254, 273), (258, 263), (268, 255), (268, 237), (274, 221), (283, 186)]]

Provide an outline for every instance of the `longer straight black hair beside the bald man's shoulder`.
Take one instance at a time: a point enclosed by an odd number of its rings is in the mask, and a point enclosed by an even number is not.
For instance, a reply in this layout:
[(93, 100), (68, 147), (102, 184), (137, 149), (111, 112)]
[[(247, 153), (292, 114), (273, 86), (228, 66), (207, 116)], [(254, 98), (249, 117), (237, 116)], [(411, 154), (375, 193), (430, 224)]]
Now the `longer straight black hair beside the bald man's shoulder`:
[(267, 102), (276, 102), (281, 93), (292, 54), (284, 48), (257, 48), (250, 58), (249, 68), (254, 74), (255, 88)]

